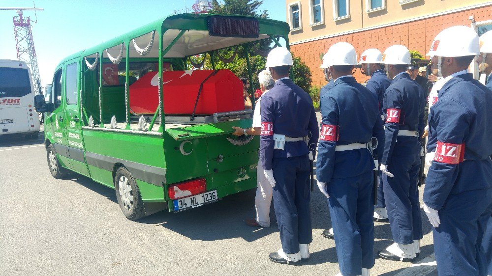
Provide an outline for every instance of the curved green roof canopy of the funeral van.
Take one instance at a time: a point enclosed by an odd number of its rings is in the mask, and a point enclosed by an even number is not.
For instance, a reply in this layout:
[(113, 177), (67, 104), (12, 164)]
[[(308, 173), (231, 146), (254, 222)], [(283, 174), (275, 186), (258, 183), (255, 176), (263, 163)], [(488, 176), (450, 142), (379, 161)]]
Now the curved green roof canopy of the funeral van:
[[(95, 57), (96, 53), (102, 53), (103, 57), (108, 57), (109, 54), (110, 58), (118, 58), (120, 55), (126, 57), (127, 47), (130, 47), (130, 58), (156, 58), (159, 56), (159, 33), (163, 33), (162, 50), (167, 50), (163, 57), (171, 58), (198, 55), (272, 36), (281, 36), (287, 40), (289, 25), (277, 20), (244, 15), (171, 15), (66, 57), (63, 61), (77, 57)], [(173, 41), (175, 44), (166, 49)]]

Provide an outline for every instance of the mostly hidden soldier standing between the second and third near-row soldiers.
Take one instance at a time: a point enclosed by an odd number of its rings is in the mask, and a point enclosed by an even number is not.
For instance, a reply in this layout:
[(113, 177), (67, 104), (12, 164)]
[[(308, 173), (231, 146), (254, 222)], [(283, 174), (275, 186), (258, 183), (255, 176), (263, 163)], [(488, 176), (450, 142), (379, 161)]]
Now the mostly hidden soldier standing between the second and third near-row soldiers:
[[(362, 65), (361, 71), (364, 71), (363, 73), (366, 76), (370, 76), (370, 79), (366, 84), (366, 88), (377, 96), (381, 118), (384, 119), (382, 110), (384, 91), (386, 91), (388, 86), (390, 86), (391, 81), (386, 76), (386, 73), (381, 70), (382, 58), (383, 56), (381, 55), (381, 51), (377, 49), (368, 49), (362, 53), (359, 64)], [(381, 157), (382, 155), (378, 156), (379, 159), (381, 159)], [(380, 161), (381, 160), (379, 160), (379, 162)], [(375, 203), (374, 221), (388, 222), (388, 213), (386, 212), (386, 203), (384, 202), (383, 183), (381, 177), (378, 177), (377, 202)]]

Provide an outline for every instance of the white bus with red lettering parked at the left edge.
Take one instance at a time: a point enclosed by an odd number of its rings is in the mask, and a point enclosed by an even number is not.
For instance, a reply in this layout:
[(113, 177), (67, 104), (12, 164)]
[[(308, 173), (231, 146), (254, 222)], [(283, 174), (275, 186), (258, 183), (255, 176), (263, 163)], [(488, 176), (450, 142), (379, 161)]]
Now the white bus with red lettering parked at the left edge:
[(39, 116), (34, 110), (34, 86), (25, 62), (0, 59), (0, 136), (37, 137)]

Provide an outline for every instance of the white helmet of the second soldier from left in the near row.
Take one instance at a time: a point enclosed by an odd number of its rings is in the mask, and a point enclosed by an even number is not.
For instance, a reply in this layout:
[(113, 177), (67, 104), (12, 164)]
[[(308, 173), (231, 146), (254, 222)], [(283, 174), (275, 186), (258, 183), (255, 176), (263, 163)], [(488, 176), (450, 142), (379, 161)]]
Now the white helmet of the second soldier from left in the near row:
[(334, 65), (357, 65), (357, 54), (354, 46), (347, 42), (333, 44), (323, 56), (321, 68)]

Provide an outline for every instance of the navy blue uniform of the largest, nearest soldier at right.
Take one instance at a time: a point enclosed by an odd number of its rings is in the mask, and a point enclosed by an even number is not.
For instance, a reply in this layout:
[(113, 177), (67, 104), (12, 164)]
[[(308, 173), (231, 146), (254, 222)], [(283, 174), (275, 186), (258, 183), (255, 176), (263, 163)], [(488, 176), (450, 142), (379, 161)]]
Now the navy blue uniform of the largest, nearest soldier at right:
[[(451, 78), (429, 114), (424, 203), (438, 210), (433, 228), (439, 275), (487, 275), (481, 243), (492, 214), (492, 93), (472, 74)], [(490, 244), (489, 244), (490, 246)]]

